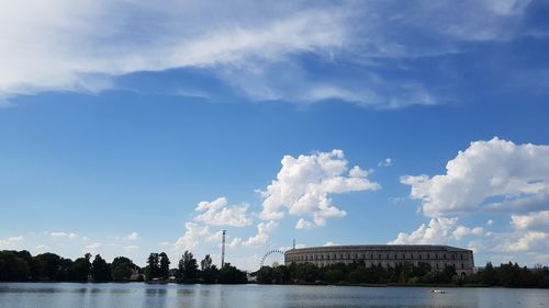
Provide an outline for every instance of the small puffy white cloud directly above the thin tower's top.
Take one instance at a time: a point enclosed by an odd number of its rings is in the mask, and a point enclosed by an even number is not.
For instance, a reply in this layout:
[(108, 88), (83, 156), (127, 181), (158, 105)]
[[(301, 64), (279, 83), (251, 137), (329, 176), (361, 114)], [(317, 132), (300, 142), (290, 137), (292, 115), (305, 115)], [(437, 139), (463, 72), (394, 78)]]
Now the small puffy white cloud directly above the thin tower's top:
[(248, 206), (247, 204), (228, 206), (226, 197), (212, 202), (203, 201), (194, 209), (201, 213), (194, 216), (194, 221), (214, 226), (246, 227), (253, 223), (253, 219), (247, 217)]

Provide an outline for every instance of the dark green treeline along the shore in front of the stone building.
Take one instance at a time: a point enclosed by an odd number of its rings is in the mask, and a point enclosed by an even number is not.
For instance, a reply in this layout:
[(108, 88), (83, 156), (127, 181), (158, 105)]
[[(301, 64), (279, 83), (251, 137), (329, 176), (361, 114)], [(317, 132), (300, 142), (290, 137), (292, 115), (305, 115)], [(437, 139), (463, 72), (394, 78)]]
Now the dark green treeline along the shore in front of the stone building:
[(549, 287), (549, 269), (520, 267), (517, 263), (494, 267), (488, 263), (484, 270), (469, 276), (459, 276), (452, 266), (432, 270), (427, 263), (403, 263), (394, 267), (374, 265), (366, 267), (363, 262), (333, 264), (317, 267), (312, 263), (292, 263), (289, 266), (264, 266), (255, 273), (261, 284), (452, 284), (504, 287)]

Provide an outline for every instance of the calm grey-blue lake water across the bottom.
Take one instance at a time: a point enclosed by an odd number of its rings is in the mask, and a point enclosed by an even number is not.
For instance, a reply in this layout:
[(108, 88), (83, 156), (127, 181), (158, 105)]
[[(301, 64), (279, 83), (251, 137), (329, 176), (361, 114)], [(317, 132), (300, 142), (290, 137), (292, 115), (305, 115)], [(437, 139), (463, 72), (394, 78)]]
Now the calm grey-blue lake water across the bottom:
[(504, 288), (0, 283), (0, 307), (547, 307), (549, 290)]

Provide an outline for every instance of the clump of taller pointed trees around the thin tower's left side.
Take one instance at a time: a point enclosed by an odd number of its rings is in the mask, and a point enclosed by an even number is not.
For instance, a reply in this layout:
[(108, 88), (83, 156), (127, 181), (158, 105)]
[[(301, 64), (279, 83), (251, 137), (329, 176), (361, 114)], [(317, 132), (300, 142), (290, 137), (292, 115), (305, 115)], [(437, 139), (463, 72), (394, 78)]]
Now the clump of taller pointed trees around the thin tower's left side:
[(145, 267), (145, 280), (155, 282), (176, 281), (178, 283), (193, 284), (245, 284), (247, 274), (229, 263), (223, 269), (213, 264), (210, 254), (206, 254), (200, 265), (190, 251), (186, 251), (178, 262), (178, 267), (169, 270), (170, 261), (166, 253), (150, 253)]

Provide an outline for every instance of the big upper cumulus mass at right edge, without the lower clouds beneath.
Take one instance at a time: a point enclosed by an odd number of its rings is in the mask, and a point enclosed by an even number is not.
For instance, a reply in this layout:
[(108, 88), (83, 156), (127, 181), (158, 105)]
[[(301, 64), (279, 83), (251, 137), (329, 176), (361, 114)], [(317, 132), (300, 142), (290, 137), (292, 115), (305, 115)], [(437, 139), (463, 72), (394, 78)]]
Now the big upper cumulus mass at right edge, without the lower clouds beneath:
[(549, 146), (515, 145), (494, 137), (471, 142), (448, 161), (446, 174), (405, 175), (410, 196), (429, 217), (456, 216), (485, 208), (531, 210), (549, 202)]

